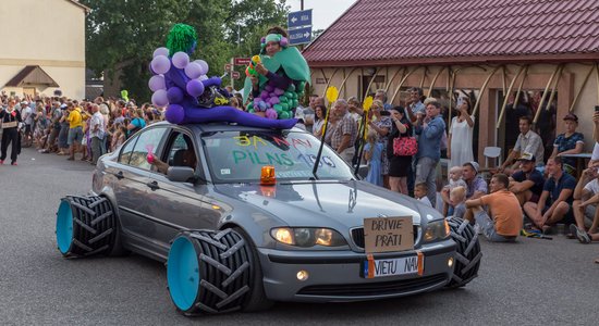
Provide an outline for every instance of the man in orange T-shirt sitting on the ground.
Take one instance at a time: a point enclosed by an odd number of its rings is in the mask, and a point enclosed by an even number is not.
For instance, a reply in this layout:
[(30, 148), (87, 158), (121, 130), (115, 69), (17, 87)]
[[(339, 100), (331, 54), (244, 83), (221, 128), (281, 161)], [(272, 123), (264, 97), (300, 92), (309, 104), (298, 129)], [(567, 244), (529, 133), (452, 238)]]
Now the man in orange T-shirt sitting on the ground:
[[(516, 196), (508, 190), (509, 186), (506, 175), (496, 174), (491, 178), (490, 195), (466, 200), (466, 208), (473, 212), (482, 235), (491, 242), (515, 241), (522, 229), (522, 209)], [(492, 217), (485, 212), (484, 205), (487, 205)]]

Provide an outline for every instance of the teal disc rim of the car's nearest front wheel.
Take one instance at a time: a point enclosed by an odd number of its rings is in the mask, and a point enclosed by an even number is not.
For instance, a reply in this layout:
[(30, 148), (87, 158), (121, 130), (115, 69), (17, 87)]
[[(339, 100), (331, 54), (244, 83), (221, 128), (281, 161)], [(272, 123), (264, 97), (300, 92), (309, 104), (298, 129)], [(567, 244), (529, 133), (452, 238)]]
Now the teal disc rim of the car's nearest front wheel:
[(174, 305), (190, 310), (199, 291), (199, 264), (194, 244), (186, 237), (176, 238), (171, 246), (167, 280)]

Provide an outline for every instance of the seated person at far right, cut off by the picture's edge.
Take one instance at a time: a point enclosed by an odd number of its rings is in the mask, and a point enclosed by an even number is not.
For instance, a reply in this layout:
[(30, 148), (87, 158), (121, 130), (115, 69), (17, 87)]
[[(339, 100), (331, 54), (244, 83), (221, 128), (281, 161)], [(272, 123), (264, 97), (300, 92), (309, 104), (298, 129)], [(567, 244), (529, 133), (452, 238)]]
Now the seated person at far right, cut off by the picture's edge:
[[(598, 241), (599, 211), (597, 211), (597, 203), (599, 203), (599, 173), (597, 173), (596, 167), (587, 168), (583, 172), (583, 176), (574, 189), (573, 197), (572, 209), (576, 224), (570, 225), (570, 231), (580, 243)], [(586, 217), (592, 221), (588, 234), (585, 228)]]

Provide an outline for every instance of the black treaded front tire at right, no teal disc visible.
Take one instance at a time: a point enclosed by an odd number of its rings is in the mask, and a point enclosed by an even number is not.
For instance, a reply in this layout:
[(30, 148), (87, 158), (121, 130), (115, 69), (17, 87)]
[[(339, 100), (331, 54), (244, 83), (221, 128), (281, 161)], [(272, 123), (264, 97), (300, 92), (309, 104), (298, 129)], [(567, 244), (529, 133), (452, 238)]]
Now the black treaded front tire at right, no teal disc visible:
[(451, 217), (448, 220), (451, 228), (451, 238), (457, 243), (455, 266), (448, 287), (463, 287), (478, 276), (480, 267), (480, 242), (475, 228), (466, 220)]

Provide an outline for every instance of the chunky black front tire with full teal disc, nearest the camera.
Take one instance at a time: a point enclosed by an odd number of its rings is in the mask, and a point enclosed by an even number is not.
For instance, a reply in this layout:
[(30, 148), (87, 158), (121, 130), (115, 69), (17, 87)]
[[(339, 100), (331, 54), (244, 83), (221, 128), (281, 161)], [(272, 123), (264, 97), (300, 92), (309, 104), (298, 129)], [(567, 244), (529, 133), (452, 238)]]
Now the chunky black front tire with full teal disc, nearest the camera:
[(250, 243), (231, 228), (182, 231), (167, 262), (171, 300), (188, 316), (241, 310), (252, 293), (252, 262)]

